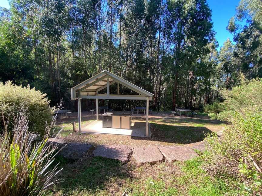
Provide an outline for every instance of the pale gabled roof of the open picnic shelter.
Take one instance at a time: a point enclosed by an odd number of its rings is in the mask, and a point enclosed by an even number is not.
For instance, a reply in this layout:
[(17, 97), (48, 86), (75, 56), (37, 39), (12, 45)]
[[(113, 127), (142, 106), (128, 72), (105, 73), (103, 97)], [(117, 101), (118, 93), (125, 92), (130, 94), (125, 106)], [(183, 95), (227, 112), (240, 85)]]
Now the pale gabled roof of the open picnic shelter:
[(76, 85), (75, 87), (71, 88), (72, 99), (77, 99), (76, 93), (80, 92), (95, 92), (97, 94), (98, 91), (107, 87), (107, 78), (109, 81), (109, 85), (113, 83), (120, 83), (123, 86), (135, 91), (136, 93), (143, 95), (145, 97), (152, 97), (153, 94), (124, 80), (121, 77), (118, 77), (115, 74), (107, 70), (103, 70), (99, 74), (94, 75), (93, 77), (81, 82), (80, 84)]

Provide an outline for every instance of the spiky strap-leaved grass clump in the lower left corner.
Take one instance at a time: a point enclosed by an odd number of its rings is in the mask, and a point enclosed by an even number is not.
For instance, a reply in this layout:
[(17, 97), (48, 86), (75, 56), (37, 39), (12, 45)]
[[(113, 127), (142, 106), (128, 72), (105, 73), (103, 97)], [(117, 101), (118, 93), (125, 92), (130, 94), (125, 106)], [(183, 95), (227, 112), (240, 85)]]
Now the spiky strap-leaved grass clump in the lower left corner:
[(54, 161), (57, 147), (48, 142), (51, 126), (46, 126), (41, 141), (33, 139), (28, 131), (26, 110), (20, 110), (13, 119), (12, 137), (9, 123), (4, 120), (3, 135), (0, 136), (0, 195), (36, 196), (45, 193), (60, 171)]

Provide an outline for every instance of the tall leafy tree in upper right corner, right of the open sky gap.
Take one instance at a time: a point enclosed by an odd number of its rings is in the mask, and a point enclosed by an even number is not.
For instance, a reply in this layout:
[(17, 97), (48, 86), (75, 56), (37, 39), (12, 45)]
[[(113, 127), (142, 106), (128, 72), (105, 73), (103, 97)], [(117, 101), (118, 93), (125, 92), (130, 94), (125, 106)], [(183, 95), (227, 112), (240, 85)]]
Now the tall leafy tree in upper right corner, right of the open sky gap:
[[(240, 72), (249, 79), (262, 76), (262, 4), (260, 0), (241, 0), (227, 26), (233, 33), (235, 56)], [(240, 25), (245, 21), (245, 25)]]

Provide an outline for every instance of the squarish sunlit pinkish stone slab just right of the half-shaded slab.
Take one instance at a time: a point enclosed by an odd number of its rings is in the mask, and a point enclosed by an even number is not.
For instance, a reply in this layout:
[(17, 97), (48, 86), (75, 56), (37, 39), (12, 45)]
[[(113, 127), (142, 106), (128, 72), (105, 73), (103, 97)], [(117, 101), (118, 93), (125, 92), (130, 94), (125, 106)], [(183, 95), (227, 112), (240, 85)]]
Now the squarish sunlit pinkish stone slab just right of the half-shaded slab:
[(163, 161), (164, 157), (157, 146), (137, 146), (133, 149), (133, 157), (139, 164)]

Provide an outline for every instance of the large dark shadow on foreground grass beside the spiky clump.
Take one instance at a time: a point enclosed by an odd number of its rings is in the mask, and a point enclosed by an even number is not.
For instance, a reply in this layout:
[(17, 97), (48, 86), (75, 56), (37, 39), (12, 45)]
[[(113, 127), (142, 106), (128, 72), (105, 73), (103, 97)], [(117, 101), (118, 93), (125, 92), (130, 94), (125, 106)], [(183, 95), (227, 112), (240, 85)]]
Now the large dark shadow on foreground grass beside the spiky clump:
[(88, 156), (82, 159), (72, 162), (57, 156), (56, 161), (61, 163), (59, 167), (64, 167), (59, 178), (64, 181), (56, 184), (51, 192), (59, 192), (61, 195), (78, 195), (80, 192), (81, 195), (96, 195), (108, 191), (107, 186), (111, 183), (121, 188), (121, 181), (130, 178), (131, 165), (102, 157)]

